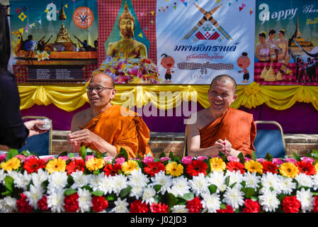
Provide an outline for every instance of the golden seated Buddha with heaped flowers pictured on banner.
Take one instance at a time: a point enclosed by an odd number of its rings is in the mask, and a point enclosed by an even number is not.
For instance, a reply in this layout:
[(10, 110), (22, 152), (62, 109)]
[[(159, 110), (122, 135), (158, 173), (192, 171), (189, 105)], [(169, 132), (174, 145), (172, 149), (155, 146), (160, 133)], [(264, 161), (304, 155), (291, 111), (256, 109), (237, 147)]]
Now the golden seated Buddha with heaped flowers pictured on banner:
[(157, 65), (147, 58), (146, 46), (135, 40), (135, 17), (130, 13), (127, 1), (118, 18), (118, 29), (119, 40), (108, 43), (106, 58), (93, 75), (109, 74), (116, 84), (159, 83)]

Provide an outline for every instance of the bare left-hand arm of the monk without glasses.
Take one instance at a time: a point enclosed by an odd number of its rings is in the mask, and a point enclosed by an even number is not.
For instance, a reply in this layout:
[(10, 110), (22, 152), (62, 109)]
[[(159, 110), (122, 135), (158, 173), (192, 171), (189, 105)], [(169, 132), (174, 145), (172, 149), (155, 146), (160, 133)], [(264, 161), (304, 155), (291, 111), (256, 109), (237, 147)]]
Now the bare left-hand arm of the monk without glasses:
[[(191, 156), (215, 156), (218, 154), (217, 143), (209, 148), (200, 148), (200, 132), (196, 124), (187, 124), (188, 155)], [(221, 145), (220, 145), (221, 146)]]

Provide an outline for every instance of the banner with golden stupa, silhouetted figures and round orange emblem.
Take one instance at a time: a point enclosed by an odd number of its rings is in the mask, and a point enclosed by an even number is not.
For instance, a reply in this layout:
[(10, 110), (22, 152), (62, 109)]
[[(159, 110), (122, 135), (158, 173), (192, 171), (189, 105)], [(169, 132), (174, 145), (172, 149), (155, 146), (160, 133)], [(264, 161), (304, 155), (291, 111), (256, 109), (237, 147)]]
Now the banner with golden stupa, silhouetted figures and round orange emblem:
[(17, 82), (85, 82), (97, 67), (93, 0), (10, 1), (11, 60)]

